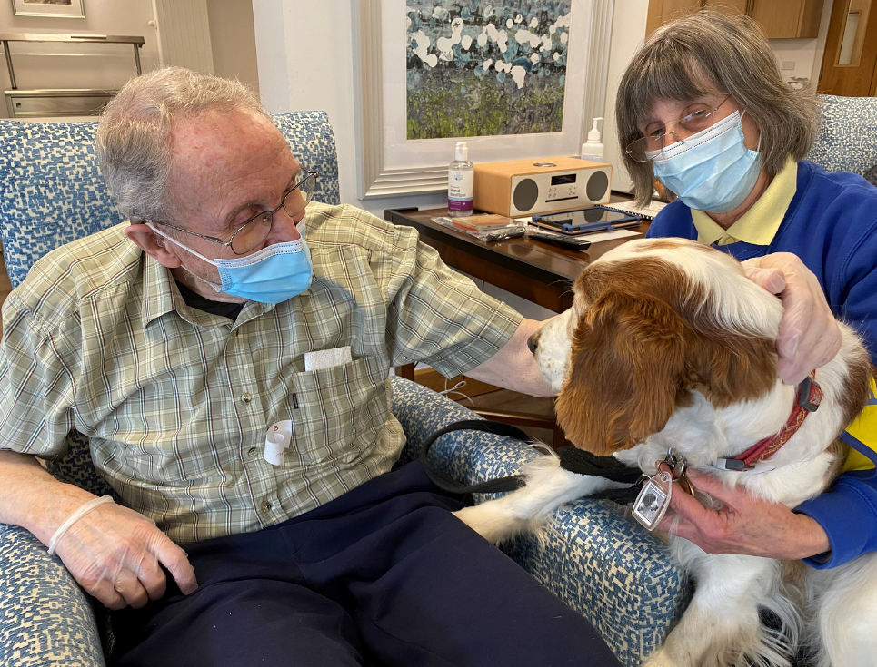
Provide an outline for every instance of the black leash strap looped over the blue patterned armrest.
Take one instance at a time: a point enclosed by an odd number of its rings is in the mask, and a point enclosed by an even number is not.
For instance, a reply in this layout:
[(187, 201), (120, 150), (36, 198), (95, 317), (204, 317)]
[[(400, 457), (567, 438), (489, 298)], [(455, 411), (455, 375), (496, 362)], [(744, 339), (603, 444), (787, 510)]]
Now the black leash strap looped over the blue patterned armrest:
[[(511, 475), (492, 479), (480, 484), (466, 485), (457, 482), (453, 477), (447, 475), (441, 468), (436, 466), (429, 459), (429, 451), (441, 436), (453, 431), (483, 431), (484, 433), (492, 433), (496, 436), (513, 437), (523, 442), (531, 442), (531, 439), (520, 428), (513, 427), (510, 424), (502, 424), (495, 421), (487, 421), (484, 419), (465, 419), (463, 421), (454, 422), (448, 426), (436, 431), (424, 443), (424, 448), (420, 453), (420, 461), (424, 465), (426, 474), (429, 476), (435, 486), (443, 491), (452, 494), (496, 494), (505, 491), (514, 491), (524, 486), (523, 476)], [(626, 488), (615, 488), (600, 491), (587, 497), (594, 500), (611, 500), (619, 505), (627, 505), (633, 503), (639, 494), (639, 486), (633, 486), (640, 478), (642, 473), (639, 468), (624, 466), (614, 456), (594, 456), (590, 452), (575, 447), (562, 447), (557, 452), (561, 459), (561, 467), (569, 470), (577, 475), (593, 475), (613, 482), (621, 482), (630, 484)]]

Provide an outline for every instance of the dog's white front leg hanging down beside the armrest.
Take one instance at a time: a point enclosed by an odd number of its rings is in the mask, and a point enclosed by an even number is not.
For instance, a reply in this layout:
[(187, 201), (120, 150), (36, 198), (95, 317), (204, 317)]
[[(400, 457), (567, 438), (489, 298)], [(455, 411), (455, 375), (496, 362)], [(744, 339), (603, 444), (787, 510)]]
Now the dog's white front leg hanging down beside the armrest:
[[(645, 662), (647, 667), (750, 667), (789, 665), (781, 636), (758, 617), (759, 606), (779, 615), (786, 633), (797, 636), (797, 614), (780, 593), (780, 563), (742, 555), (707, 555), (683, 540), (674, 544), (680, 562), (696, 581), (692, 603)], [(794, 639), (792, 639), (794, 641)]]

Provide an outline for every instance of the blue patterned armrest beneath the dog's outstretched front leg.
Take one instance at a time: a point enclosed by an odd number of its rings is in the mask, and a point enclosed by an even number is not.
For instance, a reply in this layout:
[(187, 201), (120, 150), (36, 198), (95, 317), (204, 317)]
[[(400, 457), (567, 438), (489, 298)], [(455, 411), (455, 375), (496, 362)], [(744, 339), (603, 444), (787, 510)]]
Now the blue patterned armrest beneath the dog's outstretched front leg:
[[(479, 418), (414, 382), (392, 382), (393, 413), (408, 437), (405, 460), (439, 428)], [(430, 450), (445, 472), (471, 484), (520, 472), (536, 456), (517, 440), (473, 431), (442, 436)], [(688, 584), (663, 544), (608, 501), (565, 505), (543, 544), (523, 537), (504, 550), (591, 621), (628, 667), (658, 648), (688, 601)]]

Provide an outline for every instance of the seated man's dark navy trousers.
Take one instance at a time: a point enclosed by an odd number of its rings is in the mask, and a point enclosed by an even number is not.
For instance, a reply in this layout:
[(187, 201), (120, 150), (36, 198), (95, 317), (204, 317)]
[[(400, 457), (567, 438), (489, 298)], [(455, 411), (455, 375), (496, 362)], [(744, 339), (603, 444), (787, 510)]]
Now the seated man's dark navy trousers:
[(186, 545), (199, 588), (114, 613), (112, 663), (563, 667), (619, 662), (453, 510), (419, 463), (256, 533)]

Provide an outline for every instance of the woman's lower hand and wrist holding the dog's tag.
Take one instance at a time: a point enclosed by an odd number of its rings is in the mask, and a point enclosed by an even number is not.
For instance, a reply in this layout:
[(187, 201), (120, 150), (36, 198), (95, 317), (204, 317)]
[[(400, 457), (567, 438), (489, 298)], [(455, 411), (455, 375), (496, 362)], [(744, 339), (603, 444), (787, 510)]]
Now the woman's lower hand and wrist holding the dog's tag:
[(797, 560), (831, 548), (828, 535), (810, 516), (756, 498), (743, 488), (728, 488), (711, 475), (692, 470), (689, 478), (698, 491), (721, 500), (723, 509), (704, 507), (677, 484), (659, 527), (697, 544), (707, 554)]

